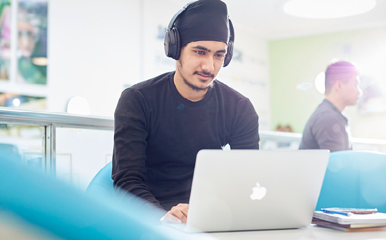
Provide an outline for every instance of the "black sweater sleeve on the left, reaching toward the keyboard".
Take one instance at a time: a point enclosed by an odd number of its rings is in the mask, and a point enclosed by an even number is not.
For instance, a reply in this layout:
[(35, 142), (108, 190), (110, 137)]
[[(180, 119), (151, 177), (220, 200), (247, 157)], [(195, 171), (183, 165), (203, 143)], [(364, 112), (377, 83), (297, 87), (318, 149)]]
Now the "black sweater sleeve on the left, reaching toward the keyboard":
[(145, 184), (145, 149), (149, 109), (134, 89), (122, 93), (114, 115), (113, 172), (115, 186), (145, 200), (144, 205), (162, 208)]

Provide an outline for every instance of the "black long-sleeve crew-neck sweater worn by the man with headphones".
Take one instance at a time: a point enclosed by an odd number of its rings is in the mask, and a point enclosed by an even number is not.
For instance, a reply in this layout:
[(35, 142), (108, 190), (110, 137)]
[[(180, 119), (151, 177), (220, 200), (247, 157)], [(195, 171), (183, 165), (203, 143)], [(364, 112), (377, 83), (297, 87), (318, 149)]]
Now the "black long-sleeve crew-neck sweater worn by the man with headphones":
[(259, 148), (248, 98), (215, 80), (204, 99), (191, 102), (179, 95), (174, 74), (127, 88), (115, 110), (115, 186), (166, 211), (188, 203), (199, 150)]

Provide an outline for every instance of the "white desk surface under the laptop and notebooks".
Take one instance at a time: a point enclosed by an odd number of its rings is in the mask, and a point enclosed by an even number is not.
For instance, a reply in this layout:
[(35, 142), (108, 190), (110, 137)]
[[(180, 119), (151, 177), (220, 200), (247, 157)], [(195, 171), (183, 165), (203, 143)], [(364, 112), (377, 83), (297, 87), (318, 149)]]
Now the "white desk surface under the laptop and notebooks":
[[(205, 235), (206, 234), (197, 234), (197, 239), (207, 239), (204, 237)], [(211, 237), (213, 237), (218, 240), (386, 240), (386, 231), (343, 232), (309, 225), (309, 227), (291, 230), (213, 232), (209, 233), (209, 236), (206, 236), (209, 237), (208, 239), (212, 239)]]

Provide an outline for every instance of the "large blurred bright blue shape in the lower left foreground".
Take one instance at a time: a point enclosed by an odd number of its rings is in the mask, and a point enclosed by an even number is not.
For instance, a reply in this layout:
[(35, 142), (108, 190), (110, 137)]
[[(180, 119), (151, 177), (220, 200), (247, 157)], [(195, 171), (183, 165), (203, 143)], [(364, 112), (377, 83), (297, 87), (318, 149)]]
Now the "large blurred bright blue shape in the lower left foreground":
[(95, 198), (5, 158), (0, 161), (0, 193), (0, 211), (63, 239), (209, 239), (159, 224), (138, 210), (138, 199), (123, 204), (104, 195)]

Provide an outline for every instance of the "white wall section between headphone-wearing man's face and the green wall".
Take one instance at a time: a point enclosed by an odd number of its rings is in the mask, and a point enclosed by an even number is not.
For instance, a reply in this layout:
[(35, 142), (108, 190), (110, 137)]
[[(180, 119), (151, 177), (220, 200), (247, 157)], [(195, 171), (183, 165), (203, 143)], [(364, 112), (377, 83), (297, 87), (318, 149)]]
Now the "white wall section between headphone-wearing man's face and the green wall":
[(234, 56), (218, 79), (250, 99), (259, 115), (259, 129), (268, 130), (271, 122), (268, 41), (251, 29), (234, 25)]

